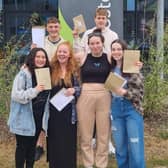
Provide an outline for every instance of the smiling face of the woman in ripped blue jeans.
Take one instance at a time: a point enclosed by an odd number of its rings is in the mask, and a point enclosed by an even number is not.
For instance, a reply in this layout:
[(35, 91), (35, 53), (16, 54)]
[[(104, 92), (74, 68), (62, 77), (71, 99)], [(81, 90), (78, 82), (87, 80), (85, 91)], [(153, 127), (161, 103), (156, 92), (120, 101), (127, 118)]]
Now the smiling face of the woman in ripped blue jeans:
[(111, 55), (113, 59), (116, 60), (117, 62), (121, 61), (123, 58), (123, 54), (124, 54), (124, 51), (123, 51), (122, 45), (117, 42), (113, 43), (111, 46)]

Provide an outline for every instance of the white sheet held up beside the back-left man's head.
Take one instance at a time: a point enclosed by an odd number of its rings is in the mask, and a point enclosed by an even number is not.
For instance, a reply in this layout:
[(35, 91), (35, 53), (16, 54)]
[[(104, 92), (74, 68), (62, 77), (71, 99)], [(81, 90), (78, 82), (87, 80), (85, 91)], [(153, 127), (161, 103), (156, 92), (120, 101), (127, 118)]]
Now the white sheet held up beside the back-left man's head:
[(45, 27), (44, 26), (34, 26), (32, 27), (32, 42), (37, 44), (37, 47), (44, 48), (45, 40)]

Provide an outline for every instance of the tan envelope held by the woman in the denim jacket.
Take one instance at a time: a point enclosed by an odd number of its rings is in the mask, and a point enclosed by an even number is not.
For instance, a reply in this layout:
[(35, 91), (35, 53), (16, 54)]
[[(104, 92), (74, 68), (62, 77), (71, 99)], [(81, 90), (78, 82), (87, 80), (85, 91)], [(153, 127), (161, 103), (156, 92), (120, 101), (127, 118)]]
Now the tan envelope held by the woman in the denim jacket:
[(35, 69), (37, 84), (45, 86), (45, 90), (51, 89), (51, 76), (49, 68)]

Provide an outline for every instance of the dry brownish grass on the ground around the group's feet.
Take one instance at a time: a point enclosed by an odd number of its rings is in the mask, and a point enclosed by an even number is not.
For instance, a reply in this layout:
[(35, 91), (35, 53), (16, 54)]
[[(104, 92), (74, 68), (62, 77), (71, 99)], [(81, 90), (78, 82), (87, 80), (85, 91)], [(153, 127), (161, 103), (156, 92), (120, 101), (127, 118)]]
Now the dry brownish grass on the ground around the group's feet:
[[(145, 157), (146, 168), (168, 168), (168, 124), (145, 121)], [(3, 130), (1, 129), (1, 134)], [(7, 137), (0, 142), (0, 168), (15, 168), (15, 139)], [(46, 154), (46, 153), (45, 153)], [(83, 168), (81, 153), (78, 149), (78, 168)], [(35, 163), (34, 168), (48, 168), (46, 157)], [(114, 156), (109, 156), (107, 168), (117, 168)]]

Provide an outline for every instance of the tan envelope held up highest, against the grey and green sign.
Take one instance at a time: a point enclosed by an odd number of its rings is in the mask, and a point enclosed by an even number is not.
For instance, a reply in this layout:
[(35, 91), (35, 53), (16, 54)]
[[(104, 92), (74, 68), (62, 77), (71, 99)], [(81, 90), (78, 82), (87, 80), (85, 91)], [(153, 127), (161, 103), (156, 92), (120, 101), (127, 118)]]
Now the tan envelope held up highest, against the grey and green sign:
[(75, 16), (73, 18), (73, 23), (74, 23), (75, 29), (77, 29), (79, 34), (86, 31), (86, 24), (85, 24), (83, 15)]

